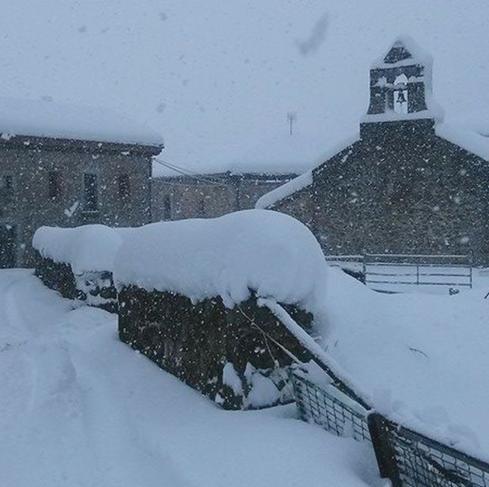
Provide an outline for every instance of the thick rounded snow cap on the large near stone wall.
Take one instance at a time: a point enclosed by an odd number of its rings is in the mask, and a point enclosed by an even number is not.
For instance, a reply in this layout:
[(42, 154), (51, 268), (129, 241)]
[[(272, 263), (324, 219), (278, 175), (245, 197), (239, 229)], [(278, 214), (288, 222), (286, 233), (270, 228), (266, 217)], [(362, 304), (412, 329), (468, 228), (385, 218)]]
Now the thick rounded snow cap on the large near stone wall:
[(161, 222), (124, 238), (114, 266), (118, 287), (134, 284), (225, 306), (258, 297), (314, 308), (326, 266), (312, 233), (287, 215), (246, 210), (214, 219)]

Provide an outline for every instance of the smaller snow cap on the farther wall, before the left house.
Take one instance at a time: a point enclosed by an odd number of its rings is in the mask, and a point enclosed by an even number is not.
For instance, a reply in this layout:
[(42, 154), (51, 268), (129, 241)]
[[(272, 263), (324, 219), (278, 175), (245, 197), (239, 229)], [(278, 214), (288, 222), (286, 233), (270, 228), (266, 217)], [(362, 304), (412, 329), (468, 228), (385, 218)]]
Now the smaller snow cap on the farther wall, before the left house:
[(69, 264), (75, 274), (112, 271), (114, 257), (122, 243), (122, 232), (105, 225), (76, 228), (41, 227), (34, 234), (33, 247), (42, 257)]

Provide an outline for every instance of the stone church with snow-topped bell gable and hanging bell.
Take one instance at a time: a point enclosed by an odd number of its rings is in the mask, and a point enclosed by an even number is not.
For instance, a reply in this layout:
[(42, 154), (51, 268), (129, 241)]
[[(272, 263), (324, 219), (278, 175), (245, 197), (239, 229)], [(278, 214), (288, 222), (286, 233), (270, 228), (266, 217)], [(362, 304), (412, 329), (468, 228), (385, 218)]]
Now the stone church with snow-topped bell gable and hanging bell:
[(371, 67), (357, 140), (257, 207), (303, 221), (329, 255), (472, 253), (488, 264), (489, 162), (449, 140), (431, 67), (410, 39), (394, 42)]

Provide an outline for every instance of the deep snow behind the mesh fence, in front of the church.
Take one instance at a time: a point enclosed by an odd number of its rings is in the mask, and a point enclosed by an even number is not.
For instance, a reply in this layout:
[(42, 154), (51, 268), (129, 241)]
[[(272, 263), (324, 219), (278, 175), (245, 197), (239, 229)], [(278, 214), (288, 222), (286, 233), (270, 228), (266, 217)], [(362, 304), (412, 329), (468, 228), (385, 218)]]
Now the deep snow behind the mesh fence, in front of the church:
[(330, 269), (317, 331), (371, 405), (489, 460), (488, 290), (383, 294)]

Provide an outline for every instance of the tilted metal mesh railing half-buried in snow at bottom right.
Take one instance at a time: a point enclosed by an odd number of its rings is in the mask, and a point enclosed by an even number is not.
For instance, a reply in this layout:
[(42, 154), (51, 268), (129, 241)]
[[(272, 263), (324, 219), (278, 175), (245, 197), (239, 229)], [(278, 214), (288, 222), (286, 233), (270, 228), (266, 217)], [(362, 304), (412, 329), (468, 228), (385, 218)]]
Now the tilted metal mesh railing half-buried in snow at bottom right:
[[(489, 487), (489, 464), (366, 409), (331, 383), (295, 369), (301, 419), (338, 436), (372, 443), (381, 477), (393, 487)], [(338, 380), (338, 379), (336, 379)]]

